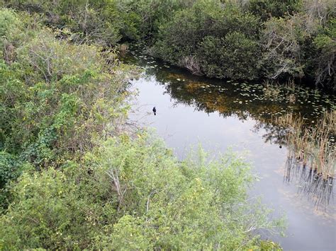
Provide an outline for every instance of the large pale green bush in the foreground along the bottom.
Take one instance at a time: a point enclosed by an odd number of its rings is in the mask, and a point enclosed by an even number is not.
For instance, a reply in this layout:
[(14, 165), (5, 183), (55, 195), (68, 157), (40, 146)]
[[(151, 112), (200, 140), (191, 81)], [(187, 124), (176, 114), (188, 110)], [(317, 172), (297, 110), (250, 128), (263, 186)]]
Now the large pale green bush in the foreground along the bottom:
[[(4, 247), (185, 249), (259, 245), (273, 226), (247, 209), (247, 166), (234, 156), (179, 163), (157, 140), (109, 139), (81, 167), (26, 173), (0, 218)], [(261, 210), (261, 211), (260, 211)], [(253, 221), (250, 219), (253, 218)], [(274, 222), (275, 223), (275, 222)]]

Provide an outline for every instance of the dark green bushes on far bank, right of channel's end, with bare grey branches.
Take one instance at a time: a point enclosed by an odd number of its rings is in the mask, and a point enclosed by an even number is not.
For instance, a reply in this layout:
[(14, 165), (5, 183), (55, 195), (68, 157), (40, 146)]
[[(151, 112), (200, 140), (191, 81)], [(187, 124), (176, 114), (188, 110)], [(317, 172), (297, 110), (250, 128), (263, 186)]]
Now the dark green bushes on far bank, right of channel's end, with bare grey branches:
[[(250, 1), (242, 6), (195, 1), (159, 27), (152, 52), (196, 74), (216, 78), (292, 78), (335, 88), (336, 41), (330, 33), (335, 30), (335, 8), (331, 1), (314, 6), (309, 2)], [(323, 8), (325, 16), (307, 13), (303, 7)], [(317, 43), (321, 36), (327, 54)]]

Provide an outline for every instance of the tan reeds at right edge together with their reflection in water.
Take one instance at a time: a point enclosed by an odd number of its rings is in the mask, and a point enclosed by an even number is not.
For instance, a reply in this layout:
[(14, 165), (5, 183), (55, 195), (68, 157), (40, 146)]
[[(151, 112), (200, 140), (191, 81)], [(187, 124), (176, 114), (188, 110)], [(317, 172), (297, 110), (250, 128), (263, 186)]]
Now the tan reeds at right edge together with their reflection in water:
[(296, 181), (299, 192), (313, 199), (318, 208), (326, 209), (335, 178), (336, 112), (325, 112), (315, 127), (308, 127), (302, 117), (293, 114), (274, 120), (286, 128), (286, 182)]

